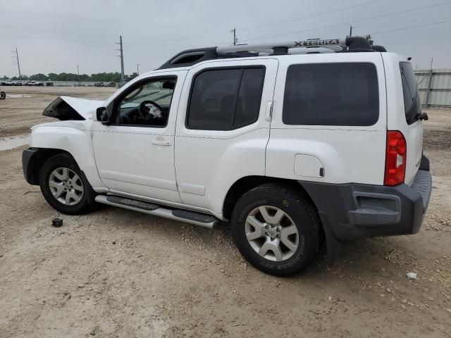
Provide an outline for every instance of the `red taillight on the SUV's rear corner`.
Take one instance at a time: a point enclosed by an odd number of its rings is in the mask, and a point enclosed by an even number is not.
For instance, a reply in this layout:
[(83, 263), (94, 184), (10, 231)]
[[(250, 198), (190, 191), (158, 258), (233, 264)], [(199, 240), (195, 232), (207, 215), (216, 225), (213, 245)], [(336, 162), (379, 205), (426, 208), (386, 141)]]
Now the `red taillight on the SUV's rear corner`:
[(407, 144), (404, 135), (397, 130), (387, 132), (385, 149), (384, 185), (397, 185), (404, 182), (406, 175)]

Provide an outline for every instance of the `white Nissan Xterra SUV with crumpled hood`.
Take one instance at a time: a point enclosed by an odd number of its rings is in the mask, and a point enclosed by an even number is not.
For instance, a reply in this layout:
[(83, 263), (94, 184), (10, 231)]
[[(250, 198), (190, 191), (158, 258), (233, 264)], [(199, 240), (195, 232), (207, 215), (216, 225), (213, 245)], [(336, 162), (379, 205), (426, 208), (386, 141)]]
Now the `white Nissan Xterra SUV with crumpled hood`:
[[(299, 48), (298, 48), (299, 47)], [(431, 194), (409, 58), (361, 37), (183, 51), (111, 98), (61, 96), (32, 128), (27, 182), (57, 211), (102, 203), (230, 221), (260, 270), (359, 237), (418, 232)]]

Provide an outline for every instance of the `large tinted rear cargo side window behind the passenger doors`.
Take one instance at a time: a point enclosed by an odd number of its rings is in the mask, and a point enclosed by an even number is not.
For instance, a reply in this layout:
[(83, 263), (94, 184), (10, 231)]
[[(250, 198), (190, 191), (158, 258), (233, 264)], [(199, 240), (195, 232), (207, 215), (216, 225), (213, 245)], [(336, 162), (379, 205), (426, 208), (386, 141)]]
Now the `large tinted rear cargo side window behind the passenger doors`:
[(285, 125), (373, 125), (379, 90), (373, 63), (290, 65), (283, 97)]

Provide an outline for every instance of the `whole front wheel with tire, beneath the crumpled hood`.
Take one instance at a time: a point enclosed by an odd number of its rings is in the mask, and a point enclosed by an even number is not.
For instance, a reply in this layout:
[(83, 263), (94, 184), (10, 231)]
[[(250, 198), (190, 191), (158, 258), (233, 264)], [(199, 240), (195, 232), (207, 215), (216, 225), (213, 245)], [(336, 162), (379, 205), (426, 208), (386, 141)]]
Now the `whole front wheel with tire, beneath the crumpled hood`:
[(68, 154), (57, 154), (44, 162), (39, 185), (46, 201), (60, 213), (80, 215), (95, 205), (94, 190)]

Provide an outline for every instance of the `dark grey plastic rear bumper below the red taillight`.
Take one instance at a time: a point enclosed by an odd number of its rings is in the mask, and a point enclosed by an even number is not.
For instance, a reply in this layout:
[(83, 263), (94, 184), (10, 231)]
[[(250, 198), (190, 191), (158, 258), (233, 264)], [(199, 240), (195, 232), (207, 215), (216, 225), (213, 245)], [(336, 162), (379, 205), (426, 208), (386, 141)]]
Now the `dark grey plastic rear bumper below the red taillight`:
[(415, 234), (431, 197), (428, 170), (418, 170), (412, 186), (299, 182), (318, 208), (326, 237), (338, 241)]

